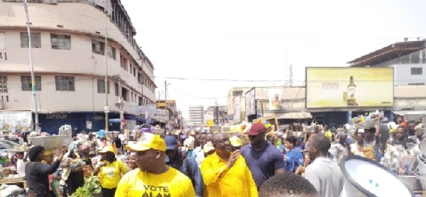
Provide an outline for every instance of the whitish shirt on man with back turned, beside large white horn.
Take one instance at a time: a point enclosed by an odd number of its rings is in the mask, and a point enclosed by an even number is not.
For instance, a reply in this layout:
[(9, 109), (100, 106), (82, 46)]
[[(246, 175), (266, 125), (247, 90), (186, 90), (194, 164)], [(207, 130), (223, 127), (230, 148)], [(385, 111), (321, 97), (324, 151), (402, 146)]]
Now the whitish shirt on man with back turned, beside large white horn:
[(339, 165), (327, 157), (318, 157), (307, 166), (305, 178), (315, 186), (321, 197), (339, 197), (345, 181)]

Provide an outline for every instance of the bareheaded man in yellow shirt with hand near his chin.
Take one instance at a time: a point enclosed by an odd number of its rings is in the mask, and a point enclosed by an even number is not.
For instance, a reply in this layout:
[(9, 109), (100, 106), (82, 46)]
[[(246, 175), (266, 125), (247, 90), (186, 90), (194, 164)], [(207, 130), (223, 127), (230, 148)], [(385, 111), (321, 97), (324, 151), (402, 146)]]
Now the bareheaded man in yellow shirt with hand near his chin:
[(209, 197), (258, 197), (249, 167), (239, 150), (231, 152), (231, 142), (224, 133), (212, 137), (214, 153), (201, 163), (204, 184)]

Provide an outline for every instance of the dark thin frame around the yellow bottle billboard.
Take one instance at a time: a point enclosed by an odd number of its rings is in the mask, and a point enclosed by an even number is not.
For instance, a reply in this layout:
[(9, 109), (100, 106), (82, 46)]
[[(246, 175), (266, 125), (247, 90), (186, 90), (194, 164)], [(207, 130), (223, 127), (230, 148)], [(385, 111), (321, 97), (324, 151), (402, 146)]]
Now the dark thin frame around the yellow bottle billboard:
[[(323, 107), (323, 108), (308, 108), (307, 107), (307, 69), (310, 68), (324, 68), (324, 69), (348, 69), (348, 68), (387, 68), (392, 69), (392, 106), (335, 106), (335, 107)], [(330, 109), (330, 108), (342, 108), (342, 109), (368, 109), (368, 108), (393, 108), (395, 106), (395, 68), (394, 67), (305, 67), (305, 108), (306, 109)]]

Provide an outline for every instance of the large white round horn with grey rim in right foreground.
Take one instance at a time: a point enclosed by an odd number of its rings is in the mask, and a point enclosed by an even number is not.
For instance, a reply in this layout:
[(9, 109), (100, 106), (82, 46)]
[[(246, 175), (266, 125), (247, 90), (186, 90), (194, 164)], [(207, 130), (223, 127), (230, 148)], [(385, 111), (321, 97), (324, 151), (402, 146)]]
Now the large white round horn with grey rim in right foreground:
[[(414, 197), (413, 191), (404, 181), (391, 170), (371, 159), (347, 156), (342, 159), (339, 166), (348, 180), (344, 184), (340, 197)], [(356, 188), (359, 192), (354, 192), (351, 188)]]

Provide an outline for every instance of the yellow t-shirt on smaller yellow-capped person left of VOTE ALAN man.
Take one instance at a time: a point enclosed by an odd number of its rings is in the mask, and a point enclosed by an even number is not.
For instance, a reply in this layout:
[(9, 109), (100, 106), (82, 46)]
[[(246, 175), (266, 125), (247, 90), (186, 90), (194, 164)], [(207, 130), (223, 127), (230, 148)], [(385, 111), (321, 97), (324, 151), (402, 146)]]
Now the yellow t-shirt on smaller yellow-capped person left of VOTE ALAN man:
[(108, 163), (99, 169), (99, 178), (103, 188), (116, 188), (121, 179), (121, 173), (125, 174), (127, 168), (121, 161)]

